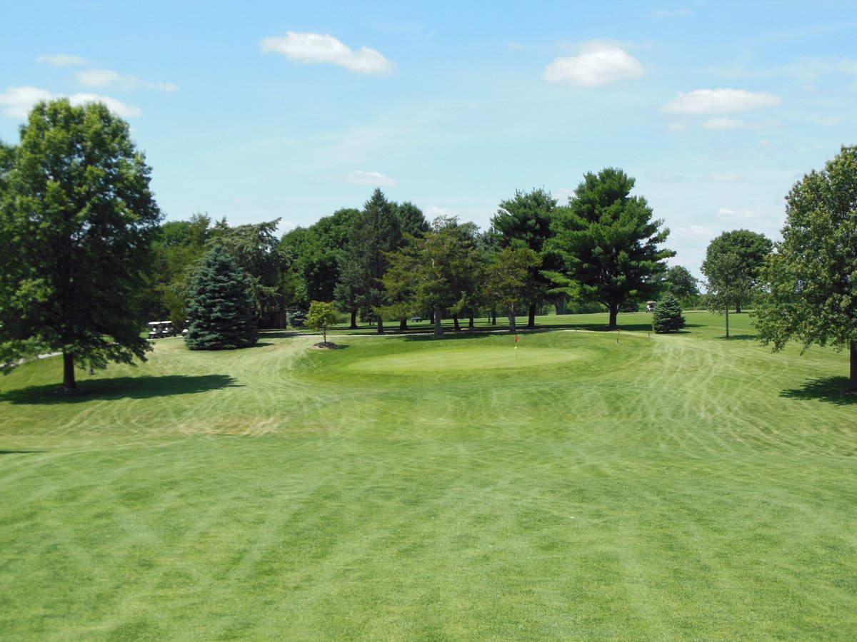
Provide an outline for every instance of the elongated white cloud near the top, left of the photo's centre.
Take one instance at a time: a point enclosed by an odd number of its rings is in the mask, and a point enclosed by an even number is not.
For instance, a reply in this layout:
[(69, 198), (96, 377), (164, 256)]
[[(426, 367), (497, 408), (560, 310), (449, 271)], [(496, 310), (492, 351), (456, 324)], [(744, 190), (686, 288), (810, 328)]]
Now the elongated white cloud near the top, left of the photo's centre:
[(259, 46), (262, 53), (276, 51), (296, 62), (326, 62), (360, 74), (383, 74), (393, 68), (380, 51), (369, 47), (354, 51), (327, 33), (290, 31), (280, 38), (262, 39)]

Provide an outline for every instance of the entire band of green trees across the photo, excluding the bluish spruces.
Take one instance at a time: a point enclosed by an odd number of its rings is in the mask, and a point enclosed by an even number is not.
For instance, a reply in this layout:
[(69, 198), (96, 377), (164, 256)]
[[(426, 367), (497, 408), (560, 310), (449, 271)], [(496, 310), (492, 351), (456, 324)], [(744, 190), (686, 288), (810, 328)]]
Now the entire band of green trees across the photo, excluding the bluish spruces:
[[(454, 218), (428, 225), (417, 207), (376, 190), (363, 210), (282, 240), (277, 221), (231, 228), (199, 215), (161, 226), (149, 175), (127, 123), (102, 104), (38, 104), (20, 144), (0, 144), (3, 372), (61, 352), (71, 390), (75, 365), (145, 359), (147, 317), (201, 314), (192, 288), (206, 255), (238, 270), (254, 327), (282, 325), (288, 307), (309, 300), (335, 301), (352, 324), (373, 315), (379, 331), (385, 317), (430, 311), (439, 328), (442, 314), (480, 307), (513, 319), (522, 306), (531, 325), (537, 306), (565, 298), (604, 306), (615, 327), (622, 306), (665, 282), (676, 296), (695, 295), (686, 270), (668, 272), (668, 230), (620, 169), (587, 173), (566, 205), (544, 190), (518, 192), (483, 233)], [(763, 342), (848, 348), (857, 389), (857, 148), (842, 147), (795, 184), (787, 216), (773, 252), (746, 230), (712, 242), (703, 265), (711, 306), (740, 309), (755, 291)]]

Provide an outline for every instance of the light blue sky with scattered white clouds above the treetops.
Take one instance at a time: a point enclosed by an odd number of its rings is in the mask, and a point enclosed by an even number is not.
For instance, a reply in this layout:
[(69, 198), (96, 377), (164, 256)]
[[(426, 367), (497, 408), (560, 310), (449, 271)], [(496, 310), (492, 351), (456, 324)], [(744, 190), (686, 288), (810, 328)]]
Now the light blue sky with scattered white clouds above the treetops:
[(3, 3), (0, 139), (39, 98), (127, 118), (169, 219), (306, 226), (375, 187), (487, 228), (620, 167), (698, 275), (778, 238), (783, 199), (857, 144), (847, 2)]

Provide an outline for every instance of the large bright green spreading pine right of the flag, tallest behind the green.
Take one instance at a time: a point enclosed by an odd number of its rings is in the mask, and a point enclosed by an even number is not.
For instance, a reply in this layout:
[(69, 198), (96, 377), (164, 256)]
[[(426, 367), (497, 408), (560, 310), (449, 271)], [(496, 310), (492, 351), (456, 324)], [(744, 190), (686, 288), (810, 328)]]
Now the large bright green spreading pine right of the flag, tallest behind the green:
[(577, 292), (607, 306), (609, 327), (617, 327), (626, 300), (656, 294), (672, 250), (658, 247), (669, 230), (652, 219), (642, 196), (631, 196), (634, 179), (621, 169), (588, 172), (568, 206), (560, 208), (550, 248), (565, 265), (560, 285), (571, 282)]

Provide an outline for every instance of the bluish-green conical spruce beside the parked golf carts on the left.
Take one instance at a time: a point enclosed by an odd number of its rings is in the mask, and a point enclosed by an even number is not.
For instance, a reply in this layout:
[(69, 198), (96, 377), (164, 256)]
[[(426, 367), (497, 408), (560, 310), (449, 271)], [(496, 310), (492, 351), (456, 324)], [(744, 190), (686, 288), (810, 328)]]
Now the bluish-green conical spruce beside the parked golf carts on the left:
[(252, 282), (225, 247), (216, 245), (200, 262), (188, 291), (191, 350), (252, 346), (259, 336)]

